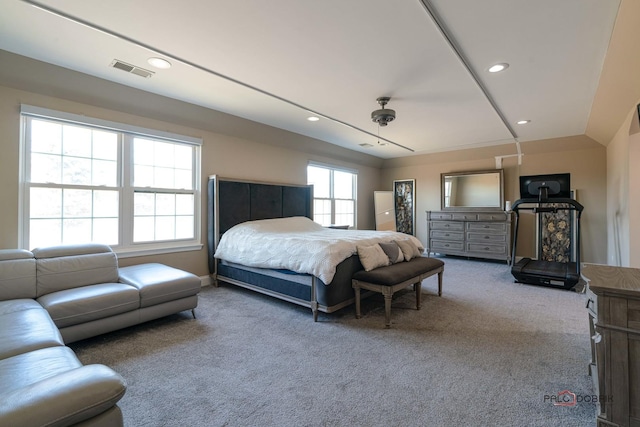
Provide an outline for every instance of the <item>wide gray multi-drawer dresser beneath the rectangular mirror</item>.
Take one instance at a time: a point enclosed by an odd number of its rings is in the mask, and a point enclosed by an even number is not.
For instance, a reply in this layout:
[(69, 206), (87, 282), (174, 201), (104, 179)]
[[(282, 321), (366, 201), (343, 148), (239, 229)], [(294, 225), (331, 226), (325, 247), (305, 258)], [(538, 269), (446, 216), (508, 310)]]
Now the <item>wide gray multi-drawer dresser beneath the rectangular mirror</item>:
[(427, 211), (427, 253), (511, 261), (511, 213)]

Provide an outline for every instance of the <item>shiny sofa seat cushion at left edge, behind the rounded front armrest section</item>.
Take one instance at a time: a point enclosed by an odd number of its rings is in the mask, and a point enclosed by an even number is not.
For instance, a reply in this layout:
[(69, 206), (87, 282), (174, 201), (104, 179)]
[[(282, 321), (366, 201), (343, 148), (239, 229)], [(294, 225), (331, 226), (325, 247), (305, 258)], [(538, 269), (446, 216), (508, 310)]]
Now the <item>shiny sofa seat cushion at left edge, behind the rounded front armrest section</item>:
[[(62, 336), (42, 307), (28, 307), (0, 315), (0, 360), (29, 351), (64, 345)], [(3, 301), (2, 303), (5, 303)], [(35, 302), (35, 301), (34, 301)], [(4, 305), (0, 303), (0, 305)], [(16, 304), (12, 304), (16, 308)], [(1, 384), (1, 382), (0, 382)]]

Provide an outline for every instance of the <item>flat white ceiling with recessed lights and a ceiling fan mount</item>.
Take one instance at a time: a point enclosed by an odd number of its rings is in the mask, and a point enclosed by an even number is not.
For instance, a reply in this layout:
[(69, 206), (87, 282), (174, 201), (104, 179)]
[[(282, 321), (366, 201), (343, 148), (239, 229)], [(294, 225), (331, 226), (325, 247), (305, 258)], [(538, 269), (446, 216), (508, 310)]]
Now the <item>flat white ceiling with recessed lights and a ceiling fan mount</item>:
[(0, 49), (385, 159), (584, 134), (620, 5), (1, 1)]

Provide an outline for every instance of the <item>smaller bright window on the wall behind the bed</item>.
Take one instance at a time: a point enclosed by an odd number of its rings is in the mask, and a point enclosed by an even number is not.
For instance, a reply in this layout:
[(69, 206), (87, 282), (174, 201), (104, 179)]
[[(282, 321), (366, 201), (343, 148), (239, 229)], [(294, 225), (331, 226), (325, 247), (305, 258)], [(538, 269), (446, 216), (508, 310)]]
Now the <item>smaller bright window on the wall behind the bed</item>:
[(307, 184), (313, 184), (313, 219), (331, 224), (356, 226), (357, 173), (329, 166), (307, 166)]

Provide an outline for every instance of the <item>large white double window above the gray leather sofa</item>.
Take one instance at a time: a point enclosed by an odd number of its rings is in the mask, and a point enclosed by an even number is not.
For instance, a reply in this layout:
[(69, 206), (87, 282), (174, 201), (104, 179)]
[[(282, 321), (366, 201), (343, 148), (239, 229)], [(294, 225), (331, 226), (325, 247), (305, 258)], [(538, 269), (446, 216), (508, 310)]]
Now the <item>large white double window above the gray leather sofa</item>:
[(199, 248), (200, 140), (25, 105), (22, 120), (22, 247)]

